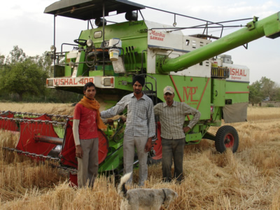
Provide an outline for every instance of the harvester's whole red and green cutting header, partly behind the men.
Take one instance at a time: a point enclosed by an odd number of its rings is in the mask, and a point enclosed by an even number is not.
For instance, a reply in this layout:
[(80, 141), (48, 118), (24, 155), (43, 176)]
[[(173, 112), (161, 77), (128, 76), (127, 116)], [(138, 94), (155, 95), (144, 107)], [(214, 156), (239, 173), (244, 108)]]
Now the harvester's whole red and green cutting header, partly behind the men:
[[(15, 148), (3, 147), (4, 150), (35, 161), (57, 162), (54, 166), (69, 172), (71, 185), (78, 186), (78, 162), (72, 127), (73, 116), (0, 111), (0, 129), (20, 134)], [(124, 129), (125, 123), (118, 119), (107, 130), (98, 130), (99, 173), (123, 173)], [(150, 163), (159, 162), (162, 158), (160, 135), (158, 137), (153, 146), (154, 152), (149, 154)], [(134, 163), (137, 166), (137, 157)]]

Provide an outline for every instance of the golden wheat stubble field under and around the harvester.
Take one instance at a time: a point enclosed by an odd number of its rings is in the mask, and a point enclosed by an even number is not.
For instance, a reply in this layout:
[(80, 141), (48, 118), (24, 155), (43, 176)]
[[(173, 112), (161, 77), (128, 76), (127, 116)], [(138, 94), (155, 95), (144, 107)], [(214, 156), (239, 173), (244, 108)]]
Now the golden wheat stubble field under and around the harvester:
[[(71, 104), (0, 103), (0, 111), (73, 115)], [(185, 180), (161, 182), (161, 167), (148, 169), (146, 188), (172, 188), (179, 198), (169, 209), (280, 209), (280, 108), (248, 107), (248, 122), (231, 124), (239, 133), (237, 153), (216, 152), (214, 142), (186, 146)], [(211, 128), (216, 134), (218, 128)], [(0, 147), (18, 137), (0, 133)], [(137, 181), (135, 172), (134, 179)], [(113, 177), (93, 189), (69, 187), (67, 176), (47, 164), (0, 150), (0, 209), (119, 209)]]

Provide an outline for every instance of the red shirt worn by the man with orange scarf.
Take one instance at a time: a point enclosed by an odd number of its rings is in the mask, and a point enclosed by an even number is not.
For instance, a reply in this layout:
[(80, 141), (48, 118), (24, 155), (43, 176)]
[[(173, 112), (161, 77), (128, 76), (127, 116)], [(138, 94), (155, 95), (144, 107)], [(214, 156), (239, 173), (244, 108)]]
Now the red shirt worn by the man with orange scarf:
[(76, 104), (74, 119), (80, 120), (78, 132), (80, 139), (93, 139), (97, 133), (97, 111), (87, 109), (81, 104)]

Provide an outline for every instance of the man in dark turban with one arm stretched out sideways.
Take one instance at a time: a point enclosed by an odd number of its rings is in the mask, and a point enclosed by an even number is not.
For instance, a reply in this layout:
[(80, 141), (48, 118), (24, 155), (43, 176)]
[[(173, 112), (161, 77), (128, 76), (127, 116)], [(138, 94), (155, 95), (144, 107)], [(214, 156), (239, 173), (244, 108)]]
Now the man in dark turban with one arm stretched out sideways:
[[(102, 118), (111, 118), (127, 108), (125, 135), (123, 138), (124, 173), (133, 170), (134, 151), (137, 148), (139, 159), (139, 186), (144, 185), (148, 176), (148, 151), (152, 148), (152, 137), (155, 136), (155, 116), (152, 100), (142, 92), (145, 79), (134, 76), (133, 93), (127, 94), (111, 109), (101, 112)], [(132, 176), (128, 180), (132, 183)]]

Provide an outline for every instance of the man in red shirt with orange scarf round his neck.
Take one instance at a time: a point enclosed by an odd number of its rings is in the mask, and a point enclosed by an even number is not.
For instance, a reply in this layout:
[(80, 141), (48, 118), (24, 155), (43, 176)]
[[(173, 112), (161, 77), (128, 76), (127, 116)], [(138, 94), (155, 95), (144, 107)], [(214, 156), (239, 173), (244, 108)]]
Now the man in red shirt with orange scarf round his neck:
[(75, 107), (73, 117), (73, 137), (78, 158), (78, 187), (92, 187), (98, 174), (98, 132), (106, 125), (100, 118), (100, 104), (95, 100), (94, 83), (86, 83), (83, 88), (85, 96)]

